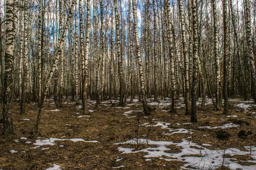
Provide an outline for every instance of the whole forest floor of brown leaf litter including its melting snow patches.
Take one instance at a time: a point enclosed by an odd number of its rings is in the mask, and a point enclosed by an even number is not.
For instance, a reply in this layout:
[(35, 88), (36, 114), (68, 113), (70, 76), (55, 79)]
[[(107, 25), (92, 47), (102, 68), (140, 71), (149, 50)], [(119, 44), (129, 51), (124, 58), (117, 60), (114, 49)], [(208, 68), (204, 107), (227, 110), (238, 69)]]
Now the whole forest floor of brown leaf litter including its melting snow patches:
[[(138, 99), (125, 108), (101, 102), (98, 111), (93, 111), (95, 101), (88, 103), (91, 114), (83, 116), (81, 105), (73, 101), (64, 100), (63, 107), (56, 109), (53, 99), (48, 99), (40, 136), (30, 135), (37, 104), (31, 102), (27, 114), (20, 115), (15, 103), (15, 135), (0, 136), (0, 169), (256, 169), (256, 138), (250, 134), (256, 131), (253, 101), (230, 99), (229, 117), (214, 111), (210, 99), (204, 107), (198, 101), (198, 123), (189, 123), (182, 98), (176, 113), (169, 112), (169, 99), (148, 99), (156, 108), (149, 116), (144, 116)], [(218, 139), (219, 130), (229, 138)]]

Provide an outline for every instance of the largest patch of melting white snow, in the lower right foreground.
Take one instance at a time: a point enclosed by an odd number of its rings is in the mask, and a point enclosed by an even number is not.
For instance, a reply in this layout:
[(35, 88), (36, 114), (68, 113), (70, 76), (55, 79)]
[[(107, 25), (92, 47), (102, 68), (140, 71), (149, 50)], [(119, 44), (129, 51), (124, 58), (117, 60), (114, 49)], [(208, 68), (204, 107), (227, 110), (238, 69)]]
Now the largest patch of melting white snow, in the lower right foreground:
[[(152, 141), (147, 139), (138, 139), (139, 144), (153, 144), (157, 147), (147, 147), (142, 150), (133, 151), (134, 148), (125, 148), (118, 147), (118, 150), (124, 153), (138, 153), (145, 152), (144, 158), (159, 158), (166, 161), (182, 161), (184, 162), (183, 166), (180, 168), (185, 168), (187, 166), (192, 166), (196, 169), (215, 169), (222, 165), (224, 150), (210, 150), (203, 146), (208, 146), (209, 144), (196, 144), (186, 139), (183, 139), (180, 143), (167, 142), (167, 141)], [(136, 139), (131, 139), (126, 142), (115, 143), (117, 144), (137, 144)], [(170, 153), (170, 148), (166, 147), (168, 145), (175, 145), (181, 147), (180, 153)], [(193, 148), (192, 148), (193, 147)], [(250, 147), (245, 147), (247, 151), (241, 151), (237, 148), (228, 148), (225, 150), (225, 154), (230, 156), (234, 155), (248, 155), (250, 153)], [(252, 147), (253, 159), (256, 159), (256, 146)], [(166, 152), (168, 151), (168, 152)], [(193, 156), (197, 155), (197, 156)], [(163, 158), (162, 156), (165, 156)], [(168, 157), (168, 158), (166, 158)], [(230, 170), (243, 169), (243, 170), (253, 170), (256, 169), (256, 160), (249, 160), (243, 162), (252, 162), (255, 163), (251, 166), (243, 166), (238, 164), (237, 159), (225, 158), (224, 165), (230, 168)]]

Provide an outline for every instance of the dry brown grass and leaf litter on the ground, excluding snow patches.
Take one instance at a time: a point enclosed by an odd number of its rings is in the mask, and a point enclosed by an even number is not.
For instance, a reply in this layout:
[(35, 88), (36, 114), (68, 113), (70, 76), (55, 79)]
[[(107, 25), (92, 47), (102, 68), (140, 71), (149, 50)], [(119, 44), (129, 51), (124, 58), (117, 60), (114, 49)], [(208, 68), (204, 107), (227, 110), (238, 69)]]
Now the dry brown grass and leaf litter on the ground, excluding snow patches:
[[(105, 170), (120, 165), (124, 165), (126, 169), (137, 170), (177, 170), (184, 164), (184, 162), (165, 161), (158, 158), (151, 158), (151, 161), (145, 161), (143, 156), (146, 153), (122, 154), (118, 151), (118, 146), (113, 145), (113, 143), (135, 138), (138, 116), (140, 116), (140, 125), (150, 122), (151, 119), (157, 119), (152, 122), (169, 122), (171, 123), (170, 126), (184, 127), (188, 130), (190, 128), (198, 128), (198, 126), (201, 125), (222, 126), (228, 119), (224, 115), (218, 115), (218, 112), (213, 111), (212, 106), (209, 105), (205, 107), (198, 106), (198, 123), (190, 125), (176, 124), (176, 122), (186, 123), (190, 121), (190, 116), (184, 115), (184, 108), (177, 109), (176, 113), (169, 113), (162, 111), (169, 108), (158, 108), (158, 106), (156, 106), (154, 117), (148, 116), (148, 118), (145, 118), (142, 112), (128, 114), (128, 116), (136, 117), (128, 118), (127, 116), (122, 116), (125, 111), (141, 110), (141, 104), (127, 105), (126, 107), (130, 108), (125, 109), (99, 105), (99, 111), (92, 112), (90, 117), (78, 118), (78, 116), (82, 115), (82, 110), (81, 108), (77, 108), (77, 105), (75, 105), (73, 101), (64, 101), (67, 102), (67, 104), (64, 104), (63, 107), (60, 108), (61, 111), (49, 111), (55, 109), (55, 105), (50, 104), (52, 102), (52, 99), (47, 101), (48, 104), (42, 113), (41, 124), (39, 126), (41, 136), (30, 135), (30, 131), (32, 130), (38, 113), (37, 105), (31, 102), (27, 106), (27, 114), (20, 115), (18, 104), (14, 104), (12, 116), (15, 136), (0, 136), (0, 169), (43, 170), (52, 167), (53, 164), (58, 164), (63, 170)], [(110, 101), (104, 104), (110, 105)], [(89, 110), (93, 110), (93, 107), (93, 104), (89, 105)], [(221, 111), (219, 113), (221, 113)], [(243, 121), (250, 123), (250, 127), (244, 125), (243, 129), (251, 131), (256, 130), (256, 119), (250, 118), (250, 116), (243, 111), (237, 112), (233, 110), (232, 114), (236, 114), (240, 119), (245, 118)], [(30, 119), (30, 121), (23, 119)], [(215, 130), (217, 131), (217, 129)], [(163, 131), (167, 132), (168, 130), (161, 129), (160, 127), (151, 127), (148, 138), (155, 141), (181, 142), (182, 139), (188, 137), (187, 133), (177, 133), (165, 136), (161, 134)], [(189, 139), (190, 141), (198, 144), (211, 144), (212, 146), (207, 146), (209, 149), (224, 149), (224, 142), (215, 137), (215, 132), (208, 130), (191, 131), (193, 133), (189, 134), (189, 136), (192, 136)], [(230, 128), (230, 139), (227, 141), (227, 148), (243, 148), (244, 146), (250, 145), (249, 140), (243, 140), (237, 136), (238, 132), (237, 128)], [(140, 126), (138, 134), (140, 138), (146, 138), (148, 127)], [(26, 137), (28, 139), (19, 140), (20, 142), (14, 141), (15, 139), (20, 139), (20, 137)], [(82, 138), (86, 141), (97, 140), (99, 143), (56, 141), (56, 144), (52, 146), (45, 145), (37, 149), (30, 149), (30, 147), (35, 147), (33, 143), (35, 143), (37, 137), (60, 139)], [(26, 141), (31, 141), (32, 143), (26, 144)], [(256, 141), (253, 139), (252, 144), (254, 145), (255, 142)], [(59, 145), (64, 145), (64, 147), (59, 147)], [(127, 146), (136, 148), (136, 144), (127, 144)], [(43, 147), (50, 147), (50, 149), (41, 150)], [(122, 147), (124, 146), (122, 145)], [(140, 148), (137, 148), (136, 150), (146, 147), (154, 147), (154, 145), (149, 146), (141, 144)], [(180, 152), (180, 148), (175, 147), (174, 145), (169, 145), (167, 147), (171, 149), (167, 152)], [(19, 152), (10, 153), (10, 150), (17, 150)], [(21, 151), (25, 151), (25, 153)], [(122, 158), (122, 160), (116, 162), (116, 159), (119, 158)], [(233, 157), (233, 159), (242, 161), (246, 160), (247, 157)], [(222, 169), (219, 168), (219, 170), (224, 170), (225, 167), (221, 168)]]

